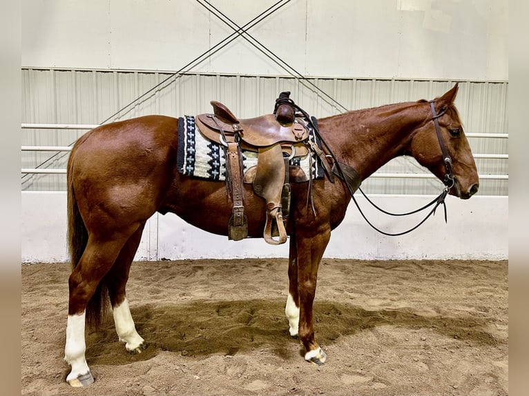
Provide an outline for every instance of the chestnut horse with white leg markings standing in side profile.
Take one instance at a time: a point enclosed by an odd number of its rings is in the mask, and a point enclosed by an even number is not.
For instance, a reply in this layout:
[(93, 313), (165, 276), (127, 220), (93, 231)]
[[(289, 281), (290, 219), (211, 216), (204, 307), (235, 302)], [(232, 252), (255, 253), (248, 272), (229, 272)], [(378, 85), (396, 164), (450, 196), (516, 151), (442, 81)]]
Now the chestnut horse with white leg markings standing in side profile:
[[(445, 190), (461, 199), (477, 192), (474, 158), (454, 106), (457, 85), (434, 101), (396, 103), (355, 110), (318, 121), (320, 136), (334, 156), (361, 179), (390, 159), (409, 155), (443, 180), (452, 157), (452, 182)], [(434, 115), (432, 115), (432, 111)], [(435, 124), (438, 124), (436, 130)], [(120, 341), (131, 353), (146, 348), (126, 299), (125, 286), (142, 231), (155, 212), (173, 212), (202, 230), (227, 235), (232, 212), (224, 182), (181, 175), (176, 168), (177, 119), (160, 115), (99, 126), (80, 137), (68, 160), (68, 238), (73, 272), (65, 360), (72, 386), (93, 382), (85, 359), (85, 321), (96, 323), (110, 299)], [(305, 359), (323, 364), (326, 355), (314, 337), (312, 306), (318, 266), (351, 199), (341, 179), (291, 184), (289, 295), (285, 313), (289, 333), (305, 346)], [(265, 201), (244, 186), (248, 236), (262, 237)]]

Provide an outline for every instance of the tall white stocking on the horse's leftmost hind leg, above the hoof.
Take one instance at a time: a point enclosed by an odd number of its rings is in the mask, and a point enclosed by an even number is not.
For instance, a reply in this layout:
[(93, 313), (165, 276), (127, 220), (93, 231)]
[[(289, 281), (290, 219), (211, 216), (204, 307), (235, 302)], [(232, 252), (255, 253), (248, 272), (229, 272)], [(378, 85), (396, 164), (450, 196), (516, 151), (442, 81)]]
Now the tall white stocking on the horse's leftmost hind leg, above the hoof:
[(64, 347), (64, 360), (72, 366), (72, 371), (66, 377), (66, 381), (71, 381), (81, 375), (87, 374), (90, 370), (84, 351), (86, 344), (84, 341), (84, 321), (86, 313), (79, 315), (68, 315), (66, 324), (66, 346)]

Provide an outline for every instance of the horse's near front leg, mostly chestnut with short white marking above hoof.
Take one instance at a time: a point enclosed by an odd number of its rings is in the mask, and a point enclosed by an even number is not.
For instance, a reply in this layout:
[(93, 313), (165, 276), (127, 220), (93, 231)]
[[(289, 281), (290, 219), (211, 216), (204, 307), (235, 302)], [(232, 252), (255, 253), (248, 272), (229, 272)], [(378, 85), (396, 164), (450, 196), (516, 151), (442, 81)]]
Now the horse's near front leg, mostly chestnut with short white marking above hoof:
[(299, 326), (298, 337), (305, 346), (305, 360), (321, 365), (327, 355), (314, 338), (312, 306), (316, 295), (316, 280), (323, 252), (329, 243), (330, 230), (315, 235), (296, 235), (296, 253), (298, 264)]

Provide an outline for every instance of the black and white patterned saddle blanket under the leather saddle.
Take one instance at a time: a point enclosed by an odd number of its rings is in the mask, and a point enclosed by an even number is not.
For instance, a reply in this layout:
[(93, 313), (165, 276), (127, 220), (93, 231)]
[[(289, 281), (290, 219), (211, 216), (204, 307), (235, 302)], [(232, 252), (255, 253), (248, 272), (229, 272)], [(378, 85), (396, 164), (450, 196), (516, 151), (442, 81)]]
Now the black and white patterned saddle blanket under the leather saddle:
[[(320, 147), (320, 141), (309, 128), (309, 140), (314, 141)], [(319, 163), (314, 152), (312, 155), (312, 169), (309, 155), (305, 157), (294, 157), (290, 165), (299, 166), (305, 175), (312, 172), (313, 179), (322, 179), (325, 175), (323, 167)], [(195, 124), (195, 117), (186, 115), (178, 119), (178, 150), (177, 170), (182, 175), (200, 177), (212, 181), (226, 180), (226, 157), (224, 147), (206, 139)], [(252, 166), (257, 165), (257, 152), (242, 150), (243, 171), (246, 172)]]

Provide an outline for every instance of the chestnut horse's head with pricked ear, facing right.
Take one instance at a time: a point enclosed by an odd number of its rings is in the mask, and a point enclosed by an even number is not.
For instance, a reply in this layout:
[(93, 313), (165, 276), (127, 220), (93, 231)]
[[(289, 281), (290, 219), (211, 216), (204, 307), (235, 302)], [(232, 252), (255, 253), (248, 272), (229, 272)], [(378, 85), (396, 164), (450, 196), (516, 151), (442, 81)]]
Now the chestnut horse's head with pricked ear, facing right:
[(427, 121), (414, 133), (411, 151), (419, 164), (443, 181), (450, 195), (468, 199), (477, 192), (479, 179), (470, 145), (454, 106), (457, 89), (456, 84), (445, 95), (427, 104)]

